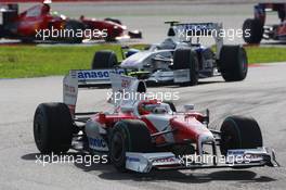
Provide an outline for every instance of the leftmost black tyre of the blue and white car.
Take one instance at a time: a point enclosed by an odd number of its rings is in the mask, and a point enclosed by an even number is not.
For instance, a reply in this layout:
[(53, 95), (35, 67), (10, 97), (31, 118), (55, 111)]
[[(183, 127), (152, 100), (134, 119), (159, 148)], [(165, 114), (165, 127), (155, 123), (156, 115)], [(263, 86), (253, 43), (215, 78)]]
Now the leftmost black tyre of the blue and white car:
[(118, 61), (115, 52), (109, 50), (102, 50), (95, 52), (91, 63), (91, 68), (113, 68), (116, 65), (118, 65)]

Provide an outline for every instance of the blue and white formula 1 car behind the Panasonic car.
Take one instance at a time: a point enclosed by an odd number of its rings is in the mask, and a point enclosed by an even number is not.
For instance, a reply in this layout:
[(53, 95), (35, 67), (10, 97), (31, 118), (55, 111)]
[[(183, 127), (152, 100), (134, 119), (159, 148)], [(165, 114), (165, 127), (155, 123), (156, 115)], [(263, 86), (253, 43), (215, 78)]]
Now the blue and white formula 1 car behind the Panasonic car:
[[(118, 63), (113, 51), (98, 51), (92, 69), (114, 71), (123, 68), (128, 75), (155, 84), (197, 85), (198, 78), (220, 73), (225, 81), (245, 79), (248, 61), (240, 46), (223, 46), (222, 24), (170, 23), (168, 38), (152, 45), (144, 51), (122, 51), (123, 61)], [(213, 37), (216, 51), (200, 45), (202, 37)], [(196, 38), (196, 42), (192, 39)], [(107, 77), (108, 78), (108, 77)], [(107, 81), (106, 81), (107, 83)]]

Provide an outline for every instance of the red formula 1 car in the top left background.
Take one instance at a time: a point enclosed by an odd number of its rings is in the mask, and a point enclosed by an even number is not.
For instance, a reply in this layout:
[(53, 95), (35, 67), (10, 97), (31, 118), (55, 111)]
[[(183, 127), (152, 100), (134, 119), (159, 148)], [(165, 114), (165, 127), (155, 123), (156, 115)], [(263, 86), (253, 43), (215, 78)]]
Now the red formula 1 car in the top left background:
[[(22, 41), (55, 40), (81, 42), (83, 39), (104, 39), (115, 41), (125, 36), (126, 26), (115, 18), (103, 21), (95, 18), (72, 20), (52, 12), (50, 4), (35, 5), (18, 14), (17, 4), (2, 8), (0, 38), (21, 39)], [(128, 31), (130, 38), (141, 38), (141, 31)]]

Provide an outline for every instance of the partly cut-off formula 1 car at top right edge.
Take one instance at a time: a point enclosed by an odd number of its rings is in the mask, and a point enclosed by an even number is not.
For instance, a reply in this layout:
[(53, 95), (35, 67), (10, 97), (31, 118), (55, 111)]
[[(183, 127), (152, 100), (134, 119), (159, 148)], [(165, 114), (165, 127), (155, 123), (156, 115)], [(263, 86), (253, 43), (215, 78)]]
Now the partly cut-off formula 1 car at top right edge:
[[(280, 24), (266, 25), (266, 12), (277, 12)], [(244, 22), (244, 40), (259, 43), (261, 39), (286, 40), (286, 3), (259, 3), (255, 5), (255, 18)]]

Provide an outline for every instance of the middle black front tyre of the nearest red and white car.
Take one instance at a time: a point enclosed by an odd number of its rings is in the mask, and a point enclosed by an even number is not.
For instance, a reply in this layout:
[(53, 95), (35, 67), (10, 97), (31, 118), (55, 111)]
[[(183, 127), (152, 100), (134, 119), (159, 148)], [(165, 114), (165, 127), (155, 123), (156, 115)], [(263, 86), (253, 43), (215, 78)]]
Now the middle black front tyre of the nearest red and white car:
[(152, 152), (151, 134), (145, 123), (138, 119), (118, 122), (109, 138), (110, 161), (119, 172), (126, 172), (126, 152)]

